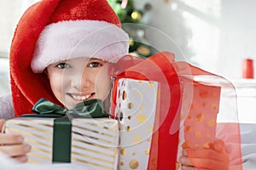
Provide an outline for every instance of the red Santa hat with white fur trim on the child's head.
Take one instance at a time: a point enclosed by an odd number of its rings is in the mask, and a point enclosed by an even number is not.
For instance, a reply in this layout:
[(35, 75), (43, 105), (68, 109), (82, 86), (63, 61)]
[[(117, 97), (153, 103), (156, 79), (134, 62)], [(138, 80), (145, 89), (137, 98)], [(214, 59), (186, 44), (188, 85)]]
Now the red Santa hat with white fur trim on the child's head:
[(107, 0), (35, 3), (21, 17), (10, 49), (16, 116), (30, 113), (41, 97), (60, 105), (42, 73), (48, 65), (76, 57), (115, 62), (128, 48), (129, 37)]

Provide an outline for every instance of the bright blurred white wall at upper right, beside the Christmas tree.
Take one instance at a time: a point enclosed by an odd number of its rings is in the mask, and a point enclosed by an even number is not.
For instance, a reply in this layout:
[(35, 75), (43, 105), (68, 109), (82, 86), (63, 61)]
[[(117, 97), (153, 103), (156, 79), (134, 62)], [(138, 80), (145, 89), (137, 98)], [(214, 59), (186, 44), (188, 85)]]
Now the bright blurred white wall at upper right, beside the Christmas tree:
[(187, 60), (207, 71), (238, 79), (242, 59), (256, 59), (256, 1), (148, 2), (152, 4), (149, 25), (158, 29), (149, 29), (149, 41), (160, 50), (175, 53), (177, 60)]

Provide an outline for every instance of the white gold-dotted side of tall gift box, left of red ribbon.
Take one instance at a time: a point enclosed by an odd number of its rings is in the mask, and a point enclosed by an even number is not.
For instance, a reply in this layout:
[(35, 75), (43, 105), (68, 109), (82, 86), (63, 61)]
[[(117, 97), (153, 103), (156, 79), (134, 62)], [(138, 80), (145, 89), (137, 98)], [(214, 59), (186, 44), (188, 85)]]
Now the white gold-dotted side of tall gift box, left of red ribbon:
[(115, 116), (119, 117), (119, 169), (147, 169), (153, 144), (158, 83), (120, 78)]

